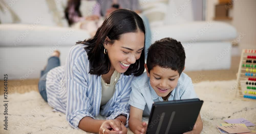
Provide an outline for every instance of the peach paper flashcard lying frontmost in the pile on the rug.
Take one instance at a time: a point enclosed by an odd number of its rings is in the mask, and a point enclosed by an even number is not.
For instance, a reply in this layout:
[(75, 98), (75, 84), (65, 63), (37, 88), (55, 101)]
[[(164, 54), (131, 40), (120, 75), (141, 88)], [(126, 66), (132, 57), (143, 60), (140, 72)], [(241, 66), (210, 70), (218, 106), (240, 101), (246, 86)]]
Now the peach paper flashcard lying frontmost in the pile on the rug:
[(245, 132), (251, 132), (251, 130), (239, 126), (239, 125), (231, 125), (231, 126), (217, 126), (218, 128), (228, 132), (228, 133), (245, 133)]

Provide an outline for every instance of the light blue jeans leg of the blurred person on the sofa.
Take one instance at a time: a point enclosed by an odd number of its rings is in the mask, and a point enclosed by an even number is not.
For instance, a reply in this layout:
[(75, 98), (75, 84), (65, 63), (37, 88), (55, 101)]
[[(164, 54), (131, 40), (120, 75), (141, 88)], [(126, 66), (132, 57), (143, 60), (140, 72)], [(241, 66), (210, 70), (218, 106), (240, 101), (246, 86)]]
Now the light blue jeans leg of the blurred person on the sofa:
[(147, 49), (150, 47), (151, 41), (152, 41), (151, 29), (150, 29), (150, 25), (149, 25), (147, 17), (142, 15), (141, 18), (144, 21), (145, 30), (146, 30), (146, 38), (145, 38), (145, 60), (146, 60), (147, 59)]

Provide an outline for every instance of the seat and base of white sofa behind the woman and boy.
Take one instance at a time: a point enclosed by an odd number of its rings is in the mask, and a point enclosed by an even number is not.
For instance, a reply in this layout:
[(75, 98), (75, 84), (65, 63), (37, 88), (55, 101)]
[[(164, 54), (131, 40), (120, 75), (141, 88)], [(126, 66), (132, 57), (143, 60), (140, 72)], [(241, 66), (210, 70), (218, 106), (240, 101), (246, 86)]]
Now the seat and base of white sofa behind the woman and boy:
[[(28, 1), (29, 0), (26, 2)], [(160, 5), (165, 3), (165, 0), (160, 1), (164, 1)], [(13, 9), (17, 10), (19, 3), (24, 4), (24, 2), (21, 3), (17, 1), (17, 3), (13, 5), (13, 7), (17, 8)], [(148, 1), (147, 4), (152, 5), (150, 2), (151, 1)], [(157, 4), (153, 5), (157, 7)], [(41, 4), (40, 8), (43, 6), (45, 5)], [(148, 7), (144, 6), (143, 8)], [(161, 10), (156, 10), (156, 8), (148, 8), (145, 10), (145, 15), (151, 19), (154, 18), (150, 16), (152, 14), (161, 18), (161, 16), (157, 14), (163, 14), (163, 11), (165, 11), (164, 8)], [(18, 14), (22, 16), (22, 12), (18, 12)], [(37, 14), (34, 13), (34, 17), (36, 17), (36, 15)], [(69, 27), (58, 27), (57, 24), (51, 24), (53, 21), (50, 22), (48, 19), (50, 18), (44, 16), (44, 20), (47, 21), (42, 21), (35, 27), (31, 24), (37, 19), (33, 19), (33, 21), (28, 24), (0, 24), (0, 75), (8, 74), (8, 79), (39, 78), (40, 70), (46, 65), (47, 58), (53, 50), (60, 50), (60, 59), (63, 65), (69, 49), (75, 42), (89, 38), (87, 31), (70, 29)], [(24, 19), (21, 17), (21, 21), (23, 20)], [(234, 27), (221, 22), (186, 22), (183, 20), (183, 23), (178, 22), (174, 24), (176, 20), (172, 20), (173, 22), (168, 24), (168, 21), (171, 20), (151, 20), (151, 42), (164, 37), (172, 37), (181, 41), (186, 51), (186, 70), (230, 68), (230, 40), (237, 37), (237, 31)], [(66, 37), (64, 35), (66, 35)]]

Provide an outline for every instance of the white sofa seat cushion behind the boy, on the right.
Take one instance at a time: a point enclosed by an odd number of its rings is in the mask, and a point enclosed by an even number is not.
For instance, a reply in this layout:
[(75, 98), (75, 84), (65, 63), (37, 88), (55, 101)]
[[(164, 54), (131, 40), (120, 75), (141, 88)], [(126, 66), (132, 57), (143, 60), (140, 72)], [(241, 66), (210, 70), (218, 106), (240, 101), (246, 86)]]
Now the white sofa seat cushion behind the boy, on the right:
[(186, 24), (160, 25), (151, 28), (152, 43), (171, 37), (178, 41), (227, 41), (237, 37), (236, 28), (218, 21), (196, 21)]

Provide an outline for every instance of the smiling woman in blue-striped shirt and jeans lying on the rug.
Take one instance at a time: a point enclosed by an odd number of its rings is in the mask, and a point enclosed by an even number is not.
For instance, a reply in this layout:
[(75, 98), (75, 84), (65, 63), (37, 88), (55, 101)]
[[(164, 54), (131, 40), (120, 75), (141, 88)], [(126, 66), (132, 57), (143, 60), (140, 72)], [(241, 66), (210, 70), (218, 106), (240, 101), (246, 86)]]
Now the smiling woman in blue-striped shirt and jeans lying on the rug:
[[(74, 128), (127, 133), (131, 81), (144, 71), (143, 20), (132, 10), (115, 10), (94, 37), (78, 43), (71, 48), (64, 67), (44, 72), (40, 94), (51, 107), (66, 113)], [(59, 59), (51, 57), (46, 70), (57, 66), (50, 65), (51, 60), (59, 65)], [(95, 120), (99, 113), (108, 116), (107, 120)]]

